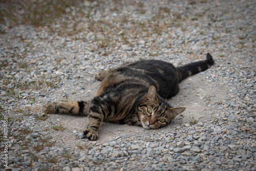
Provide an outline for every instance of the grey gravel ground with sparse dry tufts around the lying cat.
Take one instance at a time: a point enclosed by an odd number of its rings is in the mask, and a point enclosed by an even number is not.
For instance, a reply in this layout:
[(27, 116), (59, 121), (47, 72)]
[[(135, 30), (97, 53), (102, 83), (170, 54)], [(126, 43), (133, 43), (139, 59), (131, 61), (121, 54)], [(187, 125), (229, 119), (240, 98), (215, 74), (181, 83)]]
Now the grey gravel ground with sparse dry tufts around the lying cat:
[[(51, 25), (1, 24), (0, 170), (255, 170), (255, 7), (85, 1)], [(168, 102), (186, 111), (162, 129), (103, 123), (93, 142), (79, 138), (87, 118), (41, 112), (92, 98), (101, 70), (140, 59), (181, 66), (207, 52), (215, 65), (180, 83)]]

